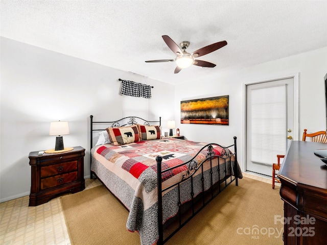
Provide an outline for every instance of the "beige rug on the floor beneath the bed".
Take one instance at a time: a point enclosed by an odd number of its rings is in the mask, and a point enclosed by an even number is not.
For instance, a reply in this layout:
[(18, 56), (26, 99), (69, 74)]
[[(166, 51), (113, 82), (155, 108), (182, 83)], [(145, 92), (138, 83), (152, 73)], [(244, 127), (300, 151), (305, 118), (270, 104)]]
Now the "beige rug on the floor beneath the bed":
[[(61, 198), (71, 243), (139, 244), (126, 230), (128, 211), (103, 186)], [(279, 187), (243, 178), (228, 186), (166, 244), (283, 244)], [(256, 232), (256, 233), (255, 233)]]

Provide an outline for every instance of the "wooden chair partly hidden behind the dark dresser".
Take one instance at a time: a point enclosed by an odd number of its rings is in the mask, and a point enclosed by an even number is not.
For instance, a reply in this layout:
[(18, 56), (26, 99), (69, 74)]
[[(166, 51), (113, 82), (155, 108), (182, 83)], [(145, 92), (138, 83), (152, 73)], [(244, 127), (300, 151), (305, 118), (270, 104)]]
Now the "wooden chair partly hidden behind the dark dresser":
[[(307, 129), (303, 132), (302, 141), (306, 141), (307, 137), (311, 138), (312, 142), (327, 143), (326, 131), (318, 131), (315, 133), (308, 134)], [(278, 178), (276, 178), (276, 170), (281, 168), (281, 158), (284, 158), (285, 155), (277, 155), (277, 163), (272, 164), (272, 188), (275, 188), (275, 183), (281, 183)]]

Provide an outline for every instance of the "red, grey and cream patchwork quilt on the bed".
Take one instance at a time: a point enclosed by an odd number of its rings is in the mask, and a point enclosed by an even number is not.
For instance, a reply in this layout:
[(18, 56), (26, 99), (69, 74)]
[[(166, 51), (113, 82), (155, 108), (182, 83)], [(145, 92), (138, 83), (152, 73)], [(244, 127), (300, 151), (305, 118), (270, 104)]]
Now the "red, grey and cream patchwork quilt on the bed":
[[(91, 170), (94, 171), (102, 182), (116, 195), (117, 198), (129, 209), (127, 229), (138, 231), (141, 244), (154, 244), (158, 238), (157, 225), (157, 164), (155, 158), (162, 157), (161, 169), (165, 170), (183, 162), (191, 160), (206, 143), (174, 138), (139, 141), (124, 145), (113, 146), (109, 144), (92, 148)], [(216, 155), (228, 154), (228, 149), (213, 145)], [(227, 151), (227, 153), (226, 153)], [(195, 158), (197, 164), (205, 160), (207, 150), (203, 149)], [(216, 159), (218, 162), (218, 159)], [(232, 161), (228, 167), (220, 172), (218, 179), (233, 175)], [(217, 163), (216, 163), (217, 165)], [(238, 166), (238, 164), (237, 164)], [(181, 180), (181, 176), (188, 171), (188, 166), (182, 165), (167, 171), (162, 175), (162, 188), (170, 186)], [(238, 177), (242, 178), (238, 166)], [(199, 176), (200, 177), (200, 176)], [(200, 179), (200, 178), (199, 178)], [(209, 183), (207, 187), (209, 188)], [(190, 200), (190, 184), (188, 181), (181, 185), (182, 203)], [(199, 185), (195, 194), (201, 192)], [(163, 197), (164, 221), (178, 212), (178, 194), (176, 188), (167, 190)]]

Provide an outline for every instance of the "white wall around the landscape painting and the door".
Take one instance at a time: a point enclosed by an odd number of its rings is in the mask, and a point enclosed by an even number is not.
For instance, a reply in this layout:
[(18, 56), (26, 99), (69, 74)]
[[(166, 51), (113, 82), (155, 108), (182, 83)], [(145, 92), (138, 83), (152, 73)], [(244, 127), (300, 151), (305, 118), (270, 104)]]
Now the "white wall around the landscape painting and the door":
[[(237, 57), (236, 57), (237, 58)], [(219, 70), (219, 67), (215, 69)], [(233, 143), (237, 136), (238, 160), (244, 168), (245, 84), (267, 81), (299, 73), (299, 139), (303, 129), (310, 132), (326, 130), (323, 78), (327, 73), (327, 47), (299, 55), (274, 60), (241, 70), (226, 71), (216, 76), (193, 81), (188, 86), (175, 86), (175, 120), (180, 118), (180, 101), (229, 95), (229, 126), (178, 124), (182, 135), (194, 141)], [(200, 85), (199, 85), (200, 84)]]

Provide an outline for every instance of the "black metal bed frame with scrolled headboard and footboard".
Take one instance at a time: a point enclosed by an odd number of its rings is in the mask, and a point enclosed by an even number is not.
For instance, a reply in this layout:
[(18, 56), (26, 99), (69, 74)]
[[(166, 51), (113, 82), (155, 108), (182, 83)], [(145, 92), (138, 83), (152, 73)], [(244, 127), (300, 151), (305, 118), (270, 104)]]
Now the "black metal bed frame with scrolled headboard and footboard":
[[(128, 121), (126, 123), (122, 124), (122, 121), (128, 119)], [(110, 127), (124, 127), (124, 126), (128, 126), (128, 125), (135, 125), (138, 122), (136, 120), (141, 120), (143, 122), (144, 125), (150, 126), (150, 123), (153, 122), (159, 122), (159, 126), (161, 126), (161, 117), (159, 117), (159, 121), (148, 121), (145, 120), (143, 118), (140, 117), (136, 117), (136, 116), (132, 116), (132, 117), (124, 117), (120, 120), (116, 120), (116, 121), (93, 121), (93, 116), (90, 115), (90, 149), (92, 148), (92, 135), (94, 133), (94, 131), (103, 131), (105, 129), (94, 129), (94, 125), (96, 124), (110, 124)], [(107, 127), (106, 127), (107, 128)], [(177, 231), (179, 231), (186, 223), (189, 222), (189, 220), (191, 220), (198, 212), (200, 212), (200, 210), (202, 210), (209, 202), (211, 202), (215, 197), (217, 197), (217, 195), (219, 193), (221, 193), (228, 185), (230, 185), (233, 181), (235, 181), (236, 186), (238, 186), (238, 161), (237, 161), (237, 137), (234, 136), (234, 143), (232, 145), (229, 146), (222, 146), (220, 144), (217, 143), (209, 143), (204, 145), (201, 150), (188, 162), (184, 162), (182, 164), (167, 168), (165, 170), (161, 170), (161, 162), (162, 162), (162, 157), (157, 156), (156, 157), (156, 162), (157, 162), (157, 189), (158, 189), (158, 232), (159, 232), (159, 238), (157, 240), (157, 245), (161, 245), (164, 244), (165, 242), (167, 242), (174, 234), (176, 234)], [(222, 151), (222, 155), (216, 155), (214, 150), (214, 146), (218, 145), (220, 146), (223, 151)], [(229, 148), (234, 148), (234, 153), (231, 153), (229, 151)], [(203, 150), (207, 150), (207, 155), (205, 157), (205, 159), (201, 162), (198, 163), (195, 158), (200, 154), (201, 151)], [(234, 160), (231, 160), (231, 157), (234, 156)], [(90, 158), (92, 159), (92, 156), (90, 156)], [(217, 158), (218, 160), (218, 166), (217, 169), (215, 169), (215, 167), (213, 167), (213, 159)], [(220, 164), (220, 159), (222, 159), (223, 163)], [(220, 179), (220, 173), (221, 171), (224, 171), (224, 174), (226, 176), (226, 172), (227, 172), (227, 162), (230, 161), (230, 168), (233, 168), (234, 170), (234, 175), (230, 174), (230, 176), (225, 177), (223, 179)], [(209, 162), (210, 164), (210, 168), (209, 168), (209, 176), (211, 178), (210, 182), (211, 185), (209, 186), (208, 190), (204, 190), (204, 171), (203, 171), (203, 166), (205, 162)], [(91, 162), (90, 162), (91, 165)], [(188, 171), (185, 175), (182, 176), (181, 180), (175, 184), (172, 184), (168, 187), (162, 188), (161, 186), (161, 180), (162, 180), (162, 174), (165, 174), (167, 171), (170, 171), (172, 169), (175, 169), (177, 167), (181, 167), (183, 165), (188, 166)], [(221, 169), (221, 165), (223, 166), (223, 169)], [(198, 194), (198, 197), (194, 197), (194, 192), (193, 192), (193, 178), (197, 172), (197, 170), (201, 169), (201, 182), (202, 182), (202, 191)], [(230, 173), (232, 173), (231, 169)], [(214, 183), (213, 181), (213, 176), (214, 176), (214, 171), (218, 172), (218, 182)], [(92, 179), (92, 175), (95, 174), (92, 172), (92, 170), (90, 170), (90, 178)], [(191, 200), (188, 201), (188, 203), (191, 203), (191, 207), (188, 209), (192, 212), (192, 214), (187, 217), (185, 220), (182, 220), (182, 204), (180, 202), (180, 185), (182, 183), (184, 183), (186, 180), (190, 180), (191, 181)], [(101, 181), (101, 180), (100, 180)], [(179, 201), (177, 203), (178, 207), (179, 207), (179, 211), (176, 214), (175, 217), (177, 217), (177, 223), (178, 223), (178, 227), (177, 229), (173, 230), (167, 237), (164, 237), (164, 224), (163, 223), (163, 217), (162, 217), (162, 194), (164, 191), (171, 189), (171, 188), (175, 188), (177, 186), (178, 188), (178, 198)], [(199, 198), (200, 197), (200, 198)], [(202, 201), (202, 204), (201, 204)], [(196, 204), (200, 204), (200, 206), (198, 205), (197, 208), (195, 208)], [(126, 208), (126, 207), (125, 207)], [(161, 210), (161, 211), (159, 211)]]

